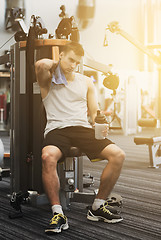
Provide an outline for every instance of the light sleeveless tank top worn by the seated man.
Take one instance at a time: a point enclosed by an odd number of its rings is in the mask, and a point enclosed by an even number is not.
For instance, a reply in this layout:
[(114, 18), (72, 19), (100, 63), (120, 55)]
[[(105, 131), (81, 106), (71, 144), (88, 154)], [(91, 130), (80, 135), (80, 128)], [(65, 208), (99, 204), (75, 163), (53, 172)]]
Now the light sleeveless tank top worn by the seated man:
[(75, 73), (73, 81), (51, 84), (48, 95), (43, 99), (47, 124), (44, 135), (55, 129), (69, 126), (91, 128), (87, 118), (86, 76)]

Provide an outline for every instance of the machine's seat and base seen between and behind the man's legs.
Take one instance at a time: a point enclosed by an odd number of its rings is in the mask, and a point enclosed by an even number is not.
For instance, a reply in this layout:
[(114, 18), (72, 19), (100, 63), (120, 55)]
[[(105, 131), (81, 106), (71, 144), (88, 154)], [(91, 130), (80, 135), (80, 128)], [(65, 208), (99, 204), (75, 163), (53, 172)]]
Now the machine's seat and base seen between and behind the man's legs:
[[(90, 174), (83, 174), (83, 158), (86, 155), (77, 147), (71, 147), (70, 153), (62, 163), (58, 163), (58, 175), (60, 179), (60, 202), (63, 209), (69, 209), (71, 202), (80, 202), (92, 204), (98, 189), (91, 192), (84, 192), (84, 187), (94, 183)], [(93, 159), (91, 162), (102, 161), (102, 159)], [(84, 184), (83, 177), (90, 178), (90, 183)], [(86, 178), (86, 179), (87, 179)], [(122, 205), (122, 197), (116, 193), (111, 193), (107, 199), (110, 204), (115, 206)]]

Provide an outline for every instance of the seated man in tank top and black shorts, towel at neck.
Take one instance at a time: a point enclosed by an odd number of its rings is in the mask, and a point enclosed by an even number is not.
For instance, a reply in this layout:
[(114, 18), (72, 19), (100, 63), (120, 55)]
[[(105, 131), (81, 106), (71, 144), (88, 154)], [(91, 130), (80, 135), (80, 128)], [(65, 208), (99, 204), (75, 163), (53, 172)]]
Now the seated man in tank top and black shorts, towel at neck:
[(68, 156), (71, 146), (80, 148), (89, 159), (108, 160), (87, 218), (109, 223), (122, 220), (117, 211), (108, 206), (106, 199), (120, 175), (125, 154), (109, 139), (97, 140), (94, 137), (94, 129), (87, 119), (88, 110), (94, 124), (99, 109), (94, 84), (90, 78), (75, 72), (83, 56), (82, 46), (70, 42), (60, 53), (59, 64), (50, 59), (42, 59), (35, 64), (47, 116), (42, 149), (42, 179), (53, 218), (46, 233), (58, 233), (69, 227), (59, 200), (57, 163)]

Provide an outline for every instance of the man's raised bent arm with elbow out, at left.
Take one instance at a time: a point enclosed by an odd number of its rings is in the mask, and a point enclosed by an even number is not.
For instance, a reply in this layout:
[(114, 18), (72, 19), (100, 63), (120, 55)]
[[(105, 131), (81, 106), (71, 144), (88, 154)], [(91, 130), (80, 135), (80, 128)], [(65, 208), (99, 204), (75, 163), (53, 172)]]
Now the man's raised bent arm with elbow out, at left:
[(41, 89), (42, 98), (49, 92), (53, 72), (58, 62), (51, 59), (41, 59), (35, 63), (35, 72), (38, 84)]

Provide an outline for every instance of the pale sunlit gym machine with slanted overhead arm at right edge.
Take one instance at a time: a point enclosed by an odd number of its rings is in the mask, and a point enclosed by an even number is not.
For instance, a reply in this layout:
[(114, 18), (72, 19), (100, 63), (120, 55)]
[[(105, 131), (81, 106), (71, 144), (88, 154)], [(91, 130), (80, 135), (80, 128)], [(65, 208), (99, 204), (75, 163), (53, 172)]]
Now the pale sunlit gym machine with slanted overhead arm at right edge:
[[(149, 160), (152, 168), (158, 168), (161, 164), (161, 55), (155, 55), (150, 49), (145, 47), (142, 43), (135, 40), (127, 32), (119, 27), (118, 22), (111, 22), (108, 24), (106, 31), (120, 34), (135, 47), (147, 54), (158, 66), (158, 94), (157, 94), (157, 119), (141, 119), (139, 124), (141, 127), (156, 127), (156, 131), (152, 136), (136, 136), (134, 142), (136, 145), (146, 144), (149, 148)], [(105, 35), (104, 44), (106, 45), (107, 39)], [(155, 47), (154, 47), (155, 48)]]

